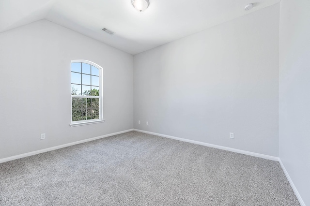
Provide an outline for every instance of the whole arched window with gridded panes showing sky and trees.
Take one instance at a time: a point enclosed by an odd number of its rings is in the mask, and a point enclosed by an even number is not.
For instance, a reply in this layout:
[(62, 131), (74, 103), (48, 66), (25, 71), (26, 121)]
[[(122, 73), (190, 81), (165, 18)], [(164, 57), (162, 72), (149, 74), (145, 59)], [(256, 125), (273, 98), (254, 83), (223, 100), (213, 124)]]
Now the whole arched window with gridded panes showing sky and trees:
[(103, 121), (102, 73), (102, 67), (91, 61), (71, 61), (72, 117), (70, 126)]

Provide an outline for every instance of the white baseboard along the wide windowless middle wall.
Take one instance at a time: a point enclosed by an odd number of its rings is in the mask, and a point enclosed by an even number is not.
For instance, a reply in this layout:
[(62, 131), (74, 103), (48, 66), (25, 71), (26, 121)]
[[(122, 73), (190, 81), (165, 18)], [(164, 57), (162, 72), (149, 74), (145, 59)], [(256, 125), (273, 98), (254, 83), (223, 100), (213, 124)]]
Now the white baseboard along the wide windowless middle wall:
[(183, 142), (189, 142), (189, 143), (193, 143), (193, 144), (197, 144), (197, 145), (203, 145), (203, 146), (207, 146), (207, 147), (214, 147), (214, 148), (217, 148), (217, 149), (223, 149), (223, 150), (227, 150), (227, 151), (231, 151), (231, 152), (246, 154), (246, 155), (250, 155), (250, 156), (254, 156), (254, 157), (260, 157), (260, 158), (264, 158), (264, 159), (268, 159), (268, 160), (279, 161), (279, 157), (264, 155), (264, 154), (255, 153), (255, 152), (249, 152), (249, 151), (245, 151), (245, 150), (241, 150), (241, 149), (234, 149), (234, 148), (231, 148), (231, 147), (223, 147), (223, 146), (208, 144), (208, 143), (199, 142), (199, 141), (195, 141), (195, 140), (189, 140), (189, 139), (184, 139), (184, 138), (180, 138), (180, 137), (174, 137), (174, 136), (170, 136), (170, 135), (166, 135), (166, 134), (160, 134), (160, 133), (155, 133), (155, 132), (148, 132), (148, 131), (144, 131), (144, 130), (134, 129), (134, 131), (148, 133), (148, 134), (154, 134), (154, 135), (161, 136), (161, 137), (167, 137), (167, 138), (170, 138), (170, 139), (180, 140), (180, 141), (183, 141)]

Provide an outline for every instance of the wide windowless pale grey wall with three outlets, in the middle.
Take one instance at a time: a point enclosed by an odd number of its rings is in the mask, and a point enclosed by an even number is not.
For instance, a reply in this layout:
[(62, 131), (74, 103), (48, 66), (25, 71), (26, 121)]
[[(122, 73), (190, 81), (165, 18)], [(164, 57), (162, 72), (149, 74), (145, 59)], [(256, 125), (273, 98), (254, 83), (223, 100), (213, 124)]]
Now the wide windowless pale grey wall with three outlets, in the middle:
[(278, 91), (276, 4), (135, 55), (134, 128), (278, 157)]

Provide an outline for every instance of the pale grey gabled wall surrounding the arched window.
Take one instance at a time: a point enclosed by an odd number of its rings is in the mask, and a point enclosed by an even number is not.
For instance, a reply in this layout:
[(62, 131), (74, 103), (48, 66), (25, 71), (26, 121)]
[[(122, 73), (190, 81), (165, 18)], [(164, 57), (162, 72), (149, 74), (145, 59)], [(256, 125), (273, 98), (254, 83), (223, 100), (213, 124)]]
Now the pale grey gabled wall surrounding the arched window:
[[(104, 68), (104, 123), (69, 126), (72, 59)], [(132, 129), (133, 56), (47, 20), (2, 32), (0, 108), (0, 159)]]

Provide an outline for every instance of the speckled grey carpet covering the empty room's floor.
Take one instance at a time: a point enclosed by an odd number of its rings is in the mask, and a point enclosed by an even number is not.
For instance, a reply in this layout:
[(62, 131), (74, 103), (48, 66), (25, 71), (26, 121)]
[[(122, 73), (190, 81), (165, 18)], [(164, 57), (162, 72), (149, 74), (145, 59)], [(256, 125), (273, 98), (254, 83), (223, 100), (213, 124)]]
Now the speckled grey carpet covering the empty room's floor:
[(298, 206), (279, 162), (140, 132), (0, 164), (4, 206)]

